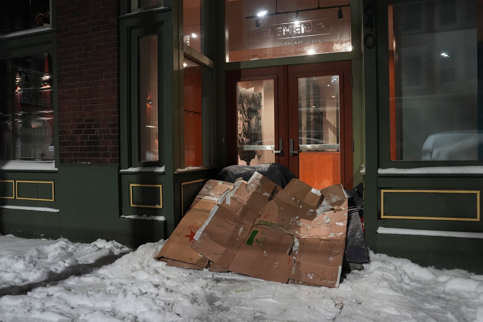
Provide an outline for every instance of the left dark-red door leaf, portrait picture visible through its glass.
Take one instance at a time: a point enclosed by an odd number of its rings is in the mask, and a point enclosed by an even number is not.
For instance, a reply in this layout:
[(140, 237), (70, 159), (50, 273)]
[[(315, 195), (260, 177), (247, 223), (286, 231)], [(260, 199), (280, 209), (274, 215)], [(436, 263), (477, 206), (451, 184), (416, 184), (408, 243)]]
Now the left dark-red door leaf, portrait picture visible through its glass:
[(287, 68), (227, 72), (228, 164), (288, 168)]

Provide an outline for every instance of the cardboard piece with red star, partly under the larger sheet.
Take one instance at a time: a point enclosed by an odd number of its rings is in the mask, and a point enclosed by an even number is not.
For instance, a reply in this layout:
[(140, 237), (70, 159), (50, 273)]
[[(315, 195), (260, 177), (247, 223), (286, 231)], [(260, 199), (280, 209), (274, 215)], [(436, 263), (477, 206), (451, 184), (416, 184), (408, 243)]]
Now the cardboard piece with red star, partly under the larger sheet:
[[(191, 249), (189, 244), (198, 229), (205, 223), (220, 196), (231, 188), (233, 188), (233, 183), (216, 180), (206, 182), (191, 204), (190, 209), (156, 255), (156, 260), (164, 261), (168, 266), (182, 268), (201, 270), (207, 267), (209, 260)], [(210, 265), (209, 267), (210, 271), (226, 271), (217, 265)]]

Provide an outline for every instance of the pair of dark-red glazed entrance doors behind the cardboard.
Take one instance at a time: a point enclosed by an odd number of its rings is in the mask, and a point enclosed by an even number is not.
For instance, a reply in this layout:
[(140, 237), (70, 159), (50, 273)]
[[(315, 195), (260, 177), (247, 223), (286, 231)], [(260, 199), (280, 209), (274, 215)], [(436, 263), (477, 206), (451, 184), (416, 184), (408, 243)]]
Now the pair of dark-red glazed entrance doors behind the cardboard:
[(350, 62), (227, 72), (229, 161), (276, 162), (315, 188), (352, 187), (351, 103)]

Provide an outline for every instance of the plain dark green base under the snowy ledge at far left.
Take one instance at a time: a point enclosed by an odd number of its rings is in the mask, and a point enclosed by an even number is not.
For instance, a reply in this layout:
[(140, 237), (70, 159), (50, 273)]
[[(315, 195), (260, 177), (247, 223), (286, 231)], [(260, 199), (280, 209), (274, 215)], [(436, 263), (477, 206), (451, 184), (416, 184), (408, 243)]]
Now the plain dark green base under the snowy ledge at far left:
[(61, 237), (58, 212), (0, 208), (0, 233), (22, 238)]

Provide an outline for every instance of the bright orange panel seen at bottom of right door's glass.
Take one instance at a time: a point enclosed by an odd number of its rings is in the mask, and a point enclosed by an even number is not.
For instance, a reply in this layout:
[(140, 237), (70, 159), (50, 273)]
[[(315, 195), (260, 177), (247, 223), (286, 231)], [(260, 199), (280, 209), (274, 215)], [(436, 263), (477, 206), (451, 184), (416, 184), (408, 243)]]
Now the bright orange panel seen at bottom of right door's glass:
[(301, 181), (315, 189), (341, 183), (340, 152), (302, 152), (298, 156)]

